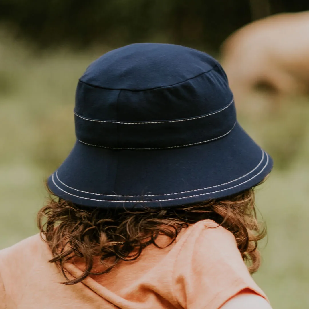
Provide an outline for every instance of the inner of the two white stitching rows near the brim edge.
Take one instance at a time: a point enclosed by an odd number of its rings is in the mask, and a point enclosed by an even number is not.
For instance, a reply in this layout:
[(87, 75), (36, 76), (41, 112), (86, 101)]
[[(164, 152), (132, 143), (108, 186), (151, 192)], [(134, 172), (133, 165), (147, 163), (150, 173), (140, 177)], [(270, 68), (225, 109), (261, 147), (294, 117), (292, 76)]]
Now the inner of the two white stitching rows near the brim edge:
[[(262, 149), (261, 149), (262, 150)], [(101, 194), (101, 193), (92, 193), (92, 192), (87, 192), (87, 191), (82, 191), (82, 190), (78, 190), (78, 189), (75, 189), (75, 188), (72, 188), (70, 186), (68, 186), (67, 184), (65, 184), (64, 182), (62, 182), (60, 179), (59, 179), (59, 176), (58, 176), (58, 171), (56, 171), (56, 177), (57, 177), (57, 180), (63, 184), (64, 186), (66, 186), (67, 188), (70, 188), (70, 189), (73, 189), (75, 191), (78, 191), (78, 192), (82, 192), (82, 193), (88, 193), (88, 194), (93, 194), (93, 195), (100, 195), (100, 196), (111, 196), (111, 197), (149, 197), (149, 196), (167, 196), (167, 195), (174, 195), (174, 194), (182, 194), (182, 193), (189, 193), (189, 192), (195, 192), (195, 191), (201, 191), (201, 190), (206, 190), (206, 189), (211, 189), (211, 188), (217, 188), (217, 187), (221, 187), (223, 185), (226, 185), (226, 184), (230, 184), (231, 182), (234, 182), (236, 180), (239, 180), (243, 177), (246, 177), (248, 176), (249, 174), (251, 174), (253, 171), (255, 171), (259, 166), (260, 164), (263, 162), (264, 160), (264, 151), (262, 150), (262, 159), (260, 160), (259, 164), (251, 171), (249, 171), (247, 174), (241, 176), (241, 177), (238, 177), (234, 180), (231, 180), (231, 181), (228, 181), (228, 182), (225, 182), (224, 184), (217, 184), (215, 186), (211, 186), (211, 187), (206, 187), (206, 188), (201, 188), (201, 189), (194, 189), (194, 190), (188, 190), (188, 191), (182, 191), (182, 192), (175, 192), (175, 193), (164, 193), (164, 194), (145, 194), (145, 195), (116, 195), (116, 194)]]

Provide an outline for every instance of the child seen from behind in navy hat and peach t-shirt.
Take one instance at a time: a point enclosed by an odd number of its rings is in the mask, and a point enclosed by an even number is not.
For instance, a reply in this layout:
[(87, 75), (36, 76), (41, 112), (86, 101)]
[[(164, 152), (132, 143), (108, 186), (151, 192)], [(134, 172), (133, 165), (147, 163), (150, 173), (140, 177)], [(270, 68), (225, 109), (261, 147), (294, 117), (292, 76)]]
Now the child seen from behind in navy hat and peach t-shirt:
[(272, 160), (236, 121), (216, 60), (113, 50), (80, 78), (74, 114), (41, 238), (0, 252), (1, 309), (270, 308), (249, 271), (265, 234), (253, 188)]

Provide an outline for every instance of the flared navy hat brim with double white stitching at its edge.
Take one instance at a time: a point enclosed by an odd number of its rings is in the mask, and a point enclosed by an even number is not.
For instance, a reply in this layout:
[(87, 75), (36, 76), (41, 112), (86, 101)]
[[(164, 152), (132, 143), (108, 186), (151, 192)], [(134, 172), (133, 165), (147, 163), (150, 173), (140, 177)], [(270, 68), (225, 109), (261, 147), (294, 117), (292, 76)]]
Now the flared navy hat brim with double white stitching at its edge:
[(241, 192), (272, 166), (271, 157), (236, 123), (223, 138), (181, 148), (110, 150), (77, 141), (48, 185), (78, 205), (168, 207)]

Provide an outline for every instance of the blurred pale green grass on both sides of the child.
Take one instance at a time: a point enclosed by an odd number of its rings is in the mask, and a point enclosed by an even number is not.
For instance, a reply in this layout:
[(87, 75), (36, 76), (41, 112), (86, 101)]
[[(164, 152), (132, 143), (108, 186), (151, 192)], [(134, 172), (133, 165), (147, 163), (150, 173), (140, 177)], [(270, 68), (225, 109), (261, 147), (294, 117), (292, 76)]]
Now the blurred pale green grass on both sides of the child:
[[(105, 51), (33, 54), (18, 43), (0, 45), (0, 248), (37, 232), (44, 180), (74, 143), (78, 77)], [(275, 160), (271, 176), (257, 192), (269, 236), (268, 243), (262, 243), (263, 263), (254, 277), (273, 308), (306, 308), (309, 104), (289, 101), (271, 115), (245, 112), (239, 117), (244, 128)]]

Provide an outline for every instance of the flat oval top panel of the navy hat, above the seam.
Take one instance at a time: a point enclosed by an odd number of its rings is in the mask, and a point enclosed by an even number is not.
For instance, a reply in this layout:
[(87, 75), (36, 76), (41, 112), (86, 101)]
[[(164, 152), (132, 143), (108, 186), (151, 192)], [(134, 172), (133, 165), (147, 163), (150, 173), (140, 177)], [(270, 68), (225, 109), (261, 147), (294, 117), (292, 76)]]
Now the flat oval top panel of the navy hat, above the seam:
[(216, 64), (196, 49), (138, 43), (105, 53), (88, 66), (80, 80), (103, 88), (142, 91), (182, 83)]

